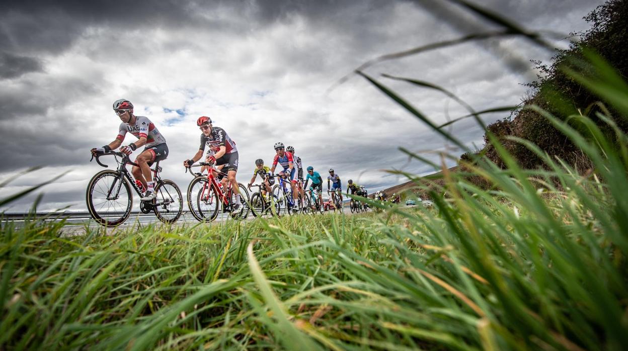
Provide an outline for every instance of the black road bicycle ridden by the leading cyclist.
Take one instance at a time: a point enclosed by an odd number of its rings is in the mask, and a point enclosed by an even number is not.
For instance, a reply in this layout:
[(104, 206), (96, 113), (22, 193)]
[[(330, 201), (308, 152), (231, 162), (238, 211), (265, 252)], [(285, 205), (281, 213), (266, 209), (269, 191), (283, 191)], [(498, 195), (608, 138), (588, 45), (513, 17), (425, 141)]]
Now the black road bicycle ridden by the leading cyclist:
[[(102, 156), (114, 156), (118, 164), (116, 171), (104, 170), (96, 173), (87, 184), (87, 210), (92, 218), (106, 227), (115, 227), (124, 223), (131, 215), (133, 209), (133, 194), (131, 188), (142, 197), (143, 190), (133, 180), (126, 165), (138, 166), (129, 159), (129, 156), (116, 151), (92, 154), (90, 162), (96, 162), (103, 167), (108, 167), (100, 162)], [(122, 159), (118, 159), (118, 157)], [(181, 190), (174, 181), (161, 179), (160, 161), (154, 164), (153, 180), (156, 198), (149, 201), (141, 201), (139, 209), (143, 213), (154, 212), (161, 222), (170, 224), (176, 222), (183, 213), (183, 197)]]

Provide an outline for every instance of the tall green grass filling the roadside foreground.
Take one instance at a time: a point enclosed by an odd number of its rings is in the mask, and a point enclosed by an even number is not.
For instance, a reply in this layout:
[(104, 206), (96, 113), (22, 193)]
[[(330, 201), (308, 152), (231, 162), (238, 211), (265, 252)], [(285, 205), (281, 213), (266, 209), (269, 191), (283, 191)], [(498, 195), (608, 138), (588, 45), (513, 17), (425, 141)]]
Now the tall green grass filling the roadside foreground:
[(522, 111), (573, 143), (584, 172), (508, 136), (542, 165), (522, 167), (489, 130), (501, 164), (468, 152), (438, 188), (407, 175), (432, 208), (365, 199), (382, 212), (80, 236), (63, 222), (4, 222), (0, 349), (625, 349), (628, 136), (617, 121), (628, 84), (595, 51), (578, 64), (565, 75), (598, 108)]

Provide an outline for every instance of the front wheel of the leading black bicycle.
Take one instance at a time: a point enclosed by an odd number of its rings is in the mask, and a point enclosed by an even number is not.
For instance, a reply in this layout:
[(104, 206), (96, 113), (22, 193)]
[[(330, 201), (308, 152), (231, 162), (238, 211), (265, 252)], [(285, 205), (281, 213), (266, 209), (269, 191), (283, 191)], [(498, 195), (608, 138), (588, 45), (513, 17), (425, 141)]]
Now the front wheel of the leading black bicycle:
[(131, 185), (118, 171), (96, 173), (87, 184), (85, 200), (92, 218), (106, 227), (122, 224), (133, 208)]

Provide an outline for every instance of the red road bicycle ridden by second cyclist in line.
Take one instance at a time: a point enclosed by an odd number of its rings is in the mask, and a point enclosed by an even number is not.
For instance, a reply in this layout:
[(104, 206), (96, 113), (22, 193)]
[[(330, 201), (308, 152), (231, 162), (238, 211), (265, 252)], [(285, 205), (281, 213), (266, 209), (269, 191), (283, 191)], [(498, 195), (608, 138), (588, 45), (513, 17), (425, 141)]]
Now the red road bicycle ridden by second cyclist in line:
[[(209, 166), (209, 172), (207, 175), (202, 173), (193, 173), (192, 167)], [(236, 203), (236, 193), (233, 191), (231, 182), (227, 182), (227, 189), (223, 192), (222, 185), (217, 181), (216, 174), (227, 176), (227, 173), (217, 170), (212, 163), (200, 162), (197, 165), (192, 165), (185, 169), (187, 173), (190, 169), (190, 173), (194, 176), (193, 180), (188, 185), (188, 207), (192, 216), (199, 222), (211, 222), (218, 217), (220, 207), (222, 212), (232, 212), (233, 204)], [(238, 213), (232, 213), (232, 217), (235, 219), (246, 219), (249, 215), (251, 208), (249, 207), (249, 192), (242, 183), (238, 184), (238, 190), (240, 190), (240, 203), (242, 209)]]

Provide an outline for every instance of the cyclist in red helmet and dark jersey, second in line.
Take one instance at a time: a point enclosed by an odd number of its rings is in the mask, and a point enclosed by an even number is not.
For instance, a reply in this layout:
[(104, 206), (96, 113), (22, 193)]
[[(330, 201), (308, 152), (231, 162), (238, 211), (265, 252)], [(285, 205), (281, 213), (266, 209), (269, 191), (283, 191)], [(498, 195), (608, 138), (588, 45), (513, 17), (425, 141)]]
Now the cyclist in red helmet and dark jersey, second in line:
[(205, 146), (212, 149), (215, 154), (207, 156), (205, 161), (215, 163), (216, 166), (224, 165), (224, 168), (227, 169), (227, 181), (231, 183), (232, 190), (236, 194), (236, 203), (232, 207), (232, 212), (238, 212), (242, 208), (242, 203), (240, 200), (240, 188), (236, 180), (238, 163), (236, 142), (229, 138), (224, 129), (214, 127), (210, 117), (198, 117), (197, 126), (202, 131), (200, 134), (200, 146), (191, 159), (183, 161), (183, 166), (189, 167), (198, 161), (203, 156)]

